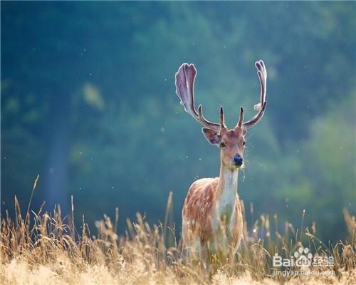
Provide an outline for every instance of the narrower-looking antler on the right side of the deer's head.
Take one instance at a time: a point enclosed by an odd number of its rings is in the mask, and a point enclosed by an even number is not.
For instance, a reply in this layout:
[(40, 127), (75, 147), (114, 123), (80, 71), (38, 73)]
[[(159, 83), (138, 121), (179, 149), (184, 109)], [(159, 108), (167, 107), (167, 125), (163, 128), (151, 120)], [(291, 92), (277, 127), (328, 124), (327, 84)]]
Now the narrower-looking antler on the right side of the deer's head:
[(259, 60), (256, 61), (255, 66), (257, 68), (257, 75), (260, 80), (260, 85), (261, 85), (261, 98), (260, 98), (260, 103), (256, 104), (253, 106), (255, 110), (258, 110), (258, 113), (251, 118), (251, 120), (248, 120), (247, 122), (242, 123), (243, 128), (251, 128), (253, 125), (258, 123), (259, 120), (263, 117), (263, 113), (266, 109), (266, 88), (267, 88), (267, 71), (266, 71), (266, 66), (263, 63), (263, 61)]

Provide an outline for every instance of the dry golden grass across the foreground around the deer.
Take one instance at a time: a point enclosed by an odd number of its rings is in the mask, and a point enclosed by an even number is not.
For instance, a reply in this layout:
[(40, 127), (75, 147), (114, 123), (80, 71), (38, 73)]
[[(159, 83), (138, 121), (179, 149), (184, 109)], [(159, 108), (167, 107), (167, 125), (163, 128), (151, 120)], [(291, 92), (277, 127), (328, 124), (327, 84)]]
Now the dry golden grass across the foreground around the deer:
[[(171, 203), (172, 196), (167, 213)], [(244, 229), (236, 260), (213, 256), (208, 274), (197, 260), (184, 264), (182, 244), (167, 225), (168, 214), (163, 224), (152, 227), (137, 214), (136, 222), (127, 220), (125, 237), (118, 237), (116, 209), (114, 222), (104, 215), (95, 223), (98, 234), (93, 236), (84, 217), (79, 232), (73, 220), (64, 222), (60, 207), (52, 213), (42, 212), (42, 207), (29, 213), (28, 205), (23, 218), (16, 197), (15, 206), (16, 219), (8, 215), (1, 220), (0, 284), (356, 284), (355, 217), (346, 210), (350, 237), (334, 246), (315, 237), (315, 224), (298, 232), (286, 223), (280, 232), (276, 216), (271, 221), (262, 215), (251, 226), (251, 235)], [(290, 257), (302, 240), (314, 255), (333, 256), (334, 265), (312, 266), (318, 274), (310, 276), (273, 276), (273, 255)], [(295, 266), (284, 269), (300, 272)]]

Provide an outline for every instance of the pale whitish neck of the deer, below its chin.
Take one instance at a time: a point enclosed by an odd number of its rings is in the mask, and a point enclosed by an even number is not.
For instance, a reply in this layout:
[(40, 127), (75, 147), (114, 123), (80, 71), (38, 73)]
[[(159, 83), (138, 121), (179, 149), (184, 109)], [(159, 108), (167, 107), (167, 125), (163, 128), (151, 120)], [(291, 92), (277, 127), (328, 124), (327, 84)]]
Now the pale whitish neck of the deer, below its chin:
[(239, 169), (231, 170), (224, 165), (221, 160), (219, 184), (217, 186), (216, 200), (219, 203), (219, 209), (229, 216), (234, 209), (237, 195), (237, 182)]

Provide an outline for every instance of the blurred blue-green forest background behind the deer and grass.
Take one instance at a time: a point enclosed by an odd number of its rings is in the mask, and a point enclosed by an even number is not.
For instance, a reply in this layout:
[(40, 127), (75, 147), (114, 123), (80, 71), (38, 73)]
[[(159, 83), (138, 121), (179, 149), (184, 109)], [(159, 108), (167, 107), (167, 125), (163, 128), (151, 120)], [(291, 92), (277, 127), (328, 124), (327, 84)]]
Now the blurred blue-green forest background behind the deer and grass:
[[(345, 237), (355, 214), (355, 2), (1, 2), (1, 212), (68, 209), (89, 222), (120, 208), (163, 219), (219, 150), (174, 94), (184, 62), (196, 100), (234, 126), (255, 111), (254, 61), (268, 70), (267, 110), (248, 131), (239, 195), (254, 214), (317, 222)], [(244, 176), (244, 179), (242, 179)], [(249, 217), (248, 219), (253, 219)], [(125, 227), (121, 219), (120, 229)]]

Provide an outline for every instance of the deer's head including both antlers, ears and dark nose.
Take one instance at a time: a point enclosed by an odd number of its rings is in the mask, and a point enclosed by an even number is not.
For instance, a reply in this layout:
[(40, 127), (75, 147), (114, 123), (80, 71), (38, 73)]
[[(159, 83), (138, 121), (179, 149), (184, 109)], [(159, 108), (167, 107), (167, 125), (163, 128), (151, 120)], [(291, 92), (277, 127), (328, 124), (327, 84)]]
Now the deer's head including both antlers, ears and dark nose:
[(184, 106), (184, 110), (189, 113), (201, 125), (202, 132), (212, 145), (216, 145), (221, 150), (221, 163), (231, 169), (241, 167), (244, 162), (244, 148), (246, 144), (245, 135), (248, 128), (256, 125), (266, 110), (266, 81), (267, 71), (263, 61), (256, 61), (257, 74), (261, 83), (260, 103), (254, 105), (258, 111), (250, 120), (244, 122), (244, 108), (240, 108), (239, 121), (234, 129), (226, 128), (224, 120), (224, 110), (220, 107), (220, 122), (212, 123), (203, 116), (201, 105), (198, 112), (194, 107), (194, 80), (197, 76), (197, 69), (194, 64), (183, 63), (176, 73), (176, 93)]

